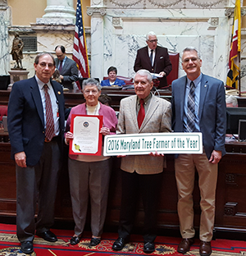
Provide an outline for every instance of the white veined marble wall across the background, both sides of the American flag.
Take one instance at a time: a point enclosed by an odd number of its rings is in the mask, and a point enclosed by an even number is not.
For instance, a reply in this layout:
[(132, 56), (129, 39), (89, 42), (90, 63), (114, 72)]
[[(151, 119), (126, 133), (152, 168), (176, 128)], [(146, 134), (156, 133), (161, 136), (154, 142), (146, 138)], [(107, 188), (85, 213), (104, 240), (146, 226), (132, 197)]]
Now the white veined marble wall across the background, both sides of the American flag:
[[(4, 7), (1, 2), (5, 2)], [(91, 76), (102, 80), (109, 66), (116, 66), (119, 75), (133, 76), (137, 50), (146, 45), (145, 34), (153, 30), (158, 44), (170, 52), (181, 53), (187, 46), (198, 48), (203, 73), (225, 81), (234, 6), (235, 0), (91, 0), (87, 7), (91, 28), (86, 30)], [(52, 19), (49, 22), (48, 18), (37, 17), (35, 24), (15, 28), (10, 25), (11, 11), (6, 1), (0, 0), (0, 75), (7, 74), (14, 64), (9, 53), (15, 30), (35, 34), (38, 53), (54, 53), (55, 46), (63, 44), (71, 57), (74, 25), (62, 24), (62, 19), (57, 24)], [(246, 37), (242, 33), (241, 76), (242, 90), (246, 90)], [(34, 75), (36, 54), (24, 53), (23, 66), (30, 71), (29, 76)], [(181, 75), (184, 71), (180, 65)]]

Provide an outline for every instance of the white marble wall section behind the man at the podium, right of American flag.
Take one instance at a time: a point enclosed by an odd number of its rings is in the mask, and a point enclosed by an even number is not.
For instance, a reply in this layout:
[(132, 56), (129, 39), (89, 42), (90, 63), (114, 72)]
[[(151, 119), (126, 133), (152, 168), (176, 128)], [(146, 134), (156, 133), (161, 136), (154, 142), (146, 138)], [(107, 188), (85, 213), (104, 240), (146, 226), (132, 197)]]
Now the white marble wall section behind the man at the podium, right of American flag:
[[(158, 44), (170, 52), (181, 53), (187, 46), (198, 48), (203, 73), (226, 80), (233, 22), (233, 15), (226, 13), (233, 13), (233, 1), (91, 2), (87, 12), (92, 16), (93, 77), (103, 78), (109, 66), (116, 66), (119, 75), (133, 76), (137, 50), (146, 45), (145, 35), (153, 30)], [(184, 74), (180, 66), (179, 76)]]

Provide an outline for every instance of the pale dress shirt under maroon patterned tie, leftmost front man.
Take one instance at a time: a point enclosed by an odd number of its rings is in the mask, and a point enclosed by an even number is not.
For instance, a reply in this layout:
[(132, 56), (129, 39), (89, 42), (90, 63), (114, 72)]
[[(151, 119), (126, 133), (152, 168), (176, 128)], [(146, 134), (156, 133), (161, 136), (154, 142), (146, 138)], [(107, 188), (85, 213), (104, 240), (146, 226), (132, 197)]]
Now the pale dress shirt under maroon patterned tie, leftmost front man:
[(44, 128), (46, 128), (46, 110), (45, 110), (45, 94), (44, 94), (44, 89), (43, 85), (48, 85), (48, 94), (52, 103), (52, 112), (53, 112), (53, 118), (54, 118), (54, 134), (57, 136), (60, 133), (60, 127), (59, 127), (59, 108), (58, 108), (58, 102), (57, 102), (57, 97), (56, 94), (52, 88), (52, 85), (50, 81), (48, 81), (47, 84), (43, 83), (39, 78), (35, 75), (35, 78), (37, 80), (37, 83), (39, 85), (39, 92), (41, 95), (41, 100), (43, 104), (43, 117), (44, 117)]

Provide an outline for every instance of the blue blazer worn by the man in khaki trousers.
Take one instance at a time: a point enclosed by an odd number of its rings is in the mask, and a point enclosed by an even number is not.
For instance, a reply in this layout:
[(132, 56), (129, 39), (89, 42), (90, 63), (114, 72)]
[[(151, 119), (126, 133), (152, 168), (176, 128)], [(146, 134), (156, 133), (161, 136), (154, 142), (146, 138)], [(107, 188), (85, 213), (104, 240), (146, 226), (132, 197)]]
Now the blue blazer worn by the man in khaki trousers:
[[(187, 76), (174, 80), (172, 89), (172, 130), (183, 132), (185, 86)], [(208, 75), (202, 75), (199, 103), (199, 126), (203, 134), (203, 146), (207, 158), (213, 150), (225, 154), (226, 107), (224, 83)]]

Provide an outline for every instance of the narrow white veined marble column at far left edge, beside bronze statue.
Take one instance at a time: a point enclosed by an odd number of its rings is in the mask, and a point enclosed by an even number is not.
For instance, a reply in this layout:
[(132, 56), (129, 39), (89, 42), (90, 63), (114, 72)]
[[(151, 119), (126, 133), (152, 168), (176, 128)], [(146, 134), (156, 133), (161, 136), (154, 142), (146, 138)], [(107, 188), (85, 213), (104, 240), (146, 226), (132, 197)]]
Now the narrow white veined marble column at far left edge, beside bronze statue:
[(8, 75), (9, 70), (9, 42), (8, 29), (11, 24), (11, 11), (7, 6), (7, 1), (0, 0), (0, 75)]

